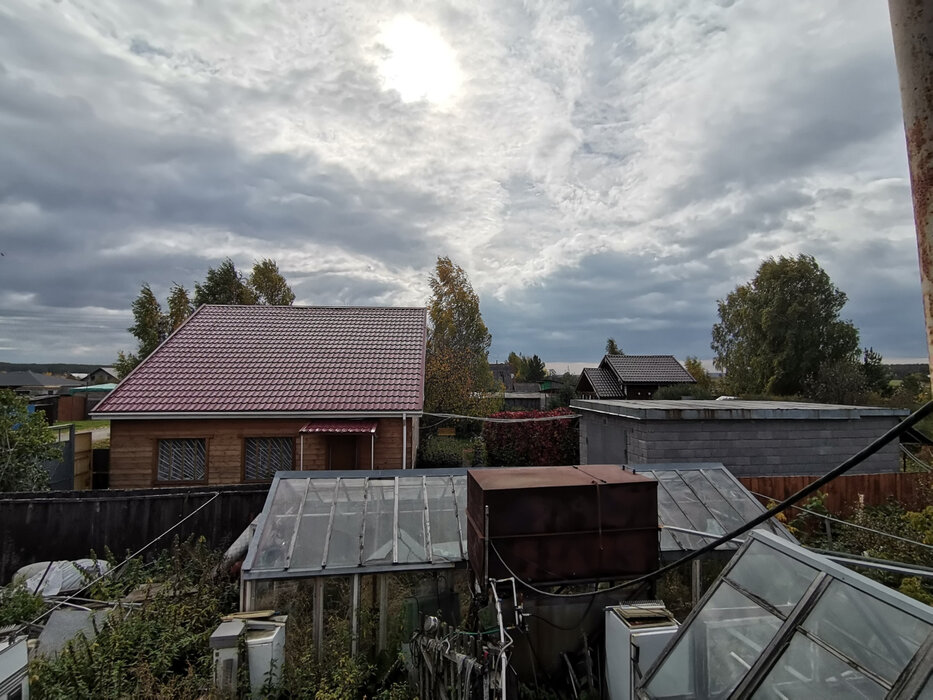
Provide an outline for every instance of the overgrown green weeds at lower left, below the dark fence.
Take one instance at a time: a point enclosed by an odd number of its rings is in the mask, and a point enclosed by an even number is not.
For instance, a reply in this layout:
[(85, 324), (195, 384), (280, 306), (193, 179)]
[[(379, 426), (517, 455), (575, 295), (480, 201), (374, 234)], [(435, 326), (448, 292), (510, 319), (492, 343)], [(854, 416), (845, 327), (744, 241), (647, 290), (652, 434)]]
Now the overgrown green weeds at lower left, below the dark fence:
[[(146, 578), (162, 585), (142, 606), (117, 607), (93, 641), (79, 635), (57, 658), (33, 660), (33, 696), (207, 696), (213, 685), (210, 634), (221, 616), (237, 607), (236, 583), (218, 575), (221, 560), (222, 553), (208, 549), (203, 538), (176, 541), (149, 567)], [(136, 565), (118, 583), (102, 582), (92, 592), (121, 594), (144, 571)]]

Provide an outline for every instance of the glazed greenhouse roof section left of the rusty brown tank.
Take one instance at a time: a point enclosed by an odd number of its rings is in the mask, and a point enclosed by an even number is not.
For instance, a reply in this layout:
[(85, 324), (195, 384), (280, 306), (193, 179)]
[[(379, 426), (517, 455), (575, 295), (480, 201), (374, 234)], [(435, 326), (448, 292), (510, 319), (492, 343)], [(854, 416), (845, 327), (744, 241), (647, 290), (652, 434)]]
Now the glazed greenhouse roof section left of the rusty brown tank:
[(279, 472), (243, 578), (450, 567), (466, 551), (465, 469)]

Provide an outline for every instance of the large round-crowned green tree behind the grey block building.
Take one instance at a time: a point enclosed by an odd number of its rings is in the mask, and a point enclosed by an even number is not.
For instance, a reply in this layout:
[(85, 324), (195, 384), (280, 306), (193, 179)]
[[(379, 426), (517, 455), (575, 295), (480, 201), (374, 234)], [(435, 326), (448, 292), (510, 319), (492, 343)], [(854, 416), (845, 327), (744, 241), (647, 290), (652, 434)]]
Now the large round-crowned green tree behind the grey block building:
[(858, 353), (858, 330), (839, 318), (845, 303), (812, 256), (768, 258), (718, 302), (716, 367), (735, 393), (806, 394), (821, 367)]

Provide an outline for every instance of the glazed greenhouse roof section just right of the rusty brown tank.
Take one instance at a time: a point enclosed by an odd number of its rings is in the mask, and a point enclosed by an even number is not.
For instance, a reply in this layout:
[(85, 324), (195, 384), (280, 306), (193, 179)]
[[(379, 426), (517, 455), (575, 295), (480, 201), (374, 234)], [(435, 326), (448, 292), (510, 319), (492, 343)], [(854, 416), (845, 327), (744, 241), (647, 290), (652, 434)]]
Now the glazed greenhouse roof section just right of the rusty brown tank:
[[(662, 552), (700, 549), (713, 535), (731, 532), (765, 512), (761, 502), (721, 464), (636, 464), (629, 468), (658, 482)], [(774, 518), (755, 529), (796, 542)], [(737, 547), (727, 543), (721, 549)]]

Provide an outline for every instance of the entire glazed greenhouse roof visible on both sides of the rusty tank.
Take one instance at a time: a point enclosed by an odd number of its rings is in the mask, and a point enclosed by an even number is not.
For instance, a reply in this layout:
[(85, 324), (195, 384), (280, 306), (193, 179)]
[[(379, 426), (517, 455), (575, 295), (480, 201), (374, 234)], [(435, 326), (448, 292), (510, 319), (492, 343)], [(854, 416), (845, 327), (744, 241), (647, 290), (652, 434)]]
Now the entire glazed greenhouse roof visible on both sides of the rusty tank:
[[(764, 512), (721, 464), (649, 466), (632, 470), (658, 482), (662, 553), (699, 549), (713, 535)], [(547, 468), (537, 471), (542, 469)], [(619, 472), (620, 478), (631, 478), (632, 471)], [(467, 559), (466, 493), (466, 469), (279, 472), (250, 542), (243, 576), (289, 578), (456, 565)], [(774, 520), (759, 529), (795, 541)]]

